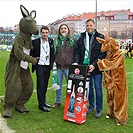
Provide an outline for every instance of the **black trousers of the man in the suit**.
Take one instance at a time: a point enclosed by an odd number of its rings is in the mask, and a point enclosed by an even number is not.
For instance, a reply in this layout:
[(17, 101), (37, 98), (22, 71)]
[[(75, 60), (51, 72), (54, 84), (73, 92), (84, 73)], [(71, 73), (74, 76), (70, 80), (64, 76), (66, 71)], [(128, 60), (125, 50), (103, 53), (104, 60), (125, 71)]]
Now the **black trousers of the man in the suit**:
[(46, 92), (48, 87), (48, 80), (50, 76), (49, 65), (37, 65), (36, 78), (37, 78), (37, 99), (40, 107), (46, 103)]

